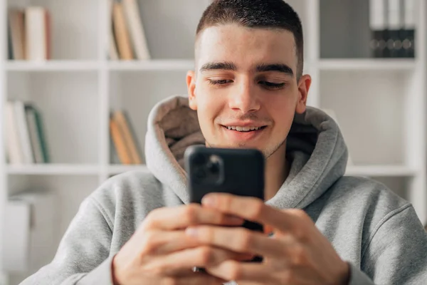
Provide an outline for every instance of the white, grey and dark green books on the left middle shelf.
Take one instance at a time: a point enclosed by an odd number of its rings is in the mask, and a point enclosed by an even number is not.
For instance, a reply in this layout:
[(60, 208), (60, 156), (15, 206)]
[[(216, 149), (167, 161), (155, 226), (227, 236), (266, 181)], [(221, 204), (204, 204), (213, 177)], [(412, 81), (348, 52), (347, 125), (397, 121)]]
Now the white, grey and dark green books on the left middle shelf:
[(11, 165), (49, 162), (41, 115), (31, 103), (6, 103), (6, 156)]

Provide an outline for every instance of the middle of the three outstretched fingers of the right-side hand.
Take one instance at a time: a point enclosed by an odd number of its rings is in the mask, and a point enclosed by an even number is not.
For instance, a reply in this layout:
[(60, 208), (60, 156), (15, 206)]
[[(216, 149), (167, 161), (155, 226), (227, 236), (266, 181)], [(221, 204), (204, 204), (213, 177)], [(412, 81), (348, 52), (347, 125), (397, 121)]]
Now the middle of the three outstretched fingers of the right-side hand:
[(233, 252), (249, 252), (263, 257), (283, 256), (284, 244), (281, 239), (271, 239), (243, 227), (196, 226), (187, 228), (186, 234), (201, 244)]

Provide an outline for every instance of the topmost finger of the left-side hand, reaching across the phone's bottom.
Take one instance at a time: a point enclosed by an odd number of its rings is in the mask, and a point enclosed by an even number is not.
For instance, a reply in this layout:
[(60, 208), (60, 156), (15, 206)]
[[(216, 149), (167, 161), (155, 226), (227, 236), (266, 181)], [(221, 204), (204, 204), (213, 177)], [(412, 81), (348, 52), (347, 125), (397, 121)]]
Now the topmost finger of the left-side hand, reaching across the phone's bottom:
[(154, 209), (142, 223), (144, 229), (184, 229), (194, 224), (238, 226), (243, 219), (232, 217), (199, 204)]

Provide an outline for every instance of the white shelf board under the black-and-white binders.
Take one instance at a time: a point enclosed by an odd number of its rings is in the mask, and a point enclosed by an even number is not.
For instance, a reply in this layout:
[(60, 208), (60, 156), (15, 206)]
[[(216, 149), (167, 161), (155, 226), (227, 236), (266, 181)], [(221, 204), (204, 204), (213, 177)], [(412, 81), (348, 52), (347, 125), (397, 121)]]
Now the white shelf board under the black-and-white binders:
[(408, 58), (321, 59), (321, 71), (413, 71), (416, 61)]

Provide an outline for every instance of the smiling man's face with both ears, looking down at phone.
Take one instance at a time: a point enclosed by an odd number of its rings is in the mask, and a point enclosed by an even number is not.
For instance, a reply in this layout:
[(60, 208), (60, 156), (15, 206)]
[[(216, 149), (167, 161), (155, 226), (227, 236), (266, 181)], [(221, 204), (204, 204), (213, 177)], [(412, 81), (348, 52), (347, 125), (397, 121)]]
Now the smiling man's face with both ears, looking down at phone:
[(297, 82), (295, 39), (285, 30), (211, 26), (196, 43), (189, 104), (211, 147), (253, 147), (270, 157), (303, 113), (310, 76)]

